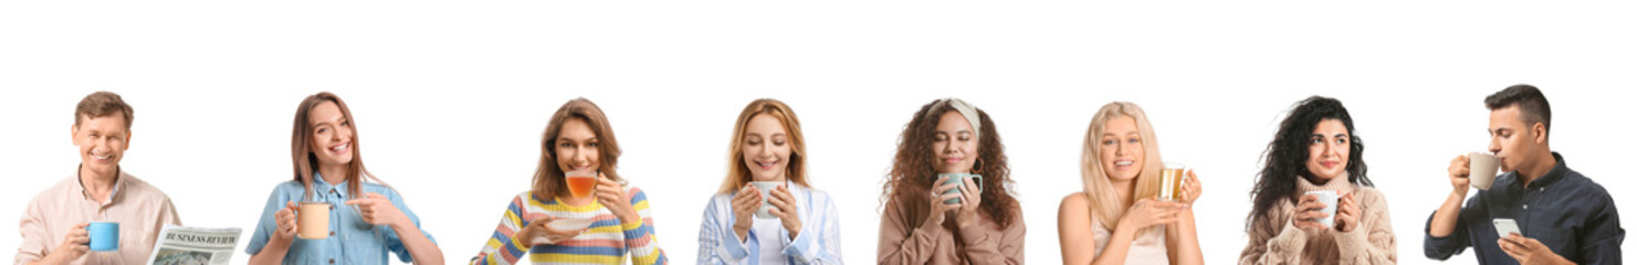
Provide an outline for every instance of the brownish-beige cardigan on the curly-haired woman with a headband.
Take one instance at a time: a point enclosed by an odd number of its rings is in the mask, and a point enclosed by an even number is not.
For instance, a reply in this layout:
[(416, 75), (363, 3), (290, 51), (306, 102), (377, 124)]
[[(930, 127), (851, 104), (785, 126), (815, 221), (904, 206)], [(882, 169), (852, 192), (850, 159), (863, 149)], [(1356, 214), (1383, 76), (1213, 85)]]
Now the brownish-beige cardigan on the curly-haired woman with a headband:
[[(1021, 214), (1007, 227), (982, 216), (977, 218), (977, 224), (967, 227), (954, 227), (953, 216), (945, 226), (910, 227), (905, 221), (912, 214), (899, 203), (904, 201), (887, 201), (887, 209), (881, 213), (876, 263), (1023, 263)], [(1012, 209), (1020, 208), (1012, 204)], [(922, 222), (922, 219), (913, 221)]]

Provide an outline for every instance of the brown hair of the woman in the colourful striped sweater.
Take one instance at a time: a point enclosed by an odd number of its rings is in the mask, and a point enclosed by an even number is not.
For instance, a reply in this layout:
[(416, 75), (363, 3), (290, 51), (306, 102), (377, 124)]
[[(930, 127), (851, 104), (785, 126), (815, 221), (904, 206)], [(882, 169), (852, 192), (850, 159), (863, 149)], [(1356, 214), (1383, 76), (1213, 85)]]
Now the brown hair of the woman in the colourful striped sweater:
[(534, 196), (540, 200), (552, 200), (557, 195), (568, 193), (568, 183), (563, 180), (563, 168), (557, 167), (557, 136), (563, 131), (563, 123), (570, 119), (584, 121), (591, 126), (591, 132), (598, 136), (598, 170), (614, 182), (625, 183), (624, 178), (614, 170), (619, 167), (619, 141), (614, 139), (614, 128), (609, 126), (609, 118), (602, 115), (602, 108), (586, 98), (575, 98), (557, 108), (552, 115), (552, 121), (545, 124), (545, 139), (540, 141), (540, 167), (534, 170)]

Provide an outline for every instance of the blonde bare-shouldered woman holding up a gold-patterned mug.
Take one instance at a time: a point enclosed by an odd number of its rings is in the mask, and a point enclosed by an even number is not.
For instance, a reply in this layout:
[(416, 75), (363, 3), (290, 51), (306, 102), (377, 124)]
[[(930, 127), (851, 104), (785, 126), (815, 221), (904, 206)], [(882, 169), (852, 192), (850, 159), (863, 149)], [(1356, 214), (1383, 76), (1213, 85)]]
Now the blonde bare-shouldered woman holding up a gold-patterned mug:
[(1080, 180), (1062, 198), (1058, 240), (1062, 263), (1205, 263), (1193, 227), (1200, 182), (1187, 172), (1182, 200), (1161, 201), (1159, 141), (1143, 108), (1103, 105), (1085, 131)]

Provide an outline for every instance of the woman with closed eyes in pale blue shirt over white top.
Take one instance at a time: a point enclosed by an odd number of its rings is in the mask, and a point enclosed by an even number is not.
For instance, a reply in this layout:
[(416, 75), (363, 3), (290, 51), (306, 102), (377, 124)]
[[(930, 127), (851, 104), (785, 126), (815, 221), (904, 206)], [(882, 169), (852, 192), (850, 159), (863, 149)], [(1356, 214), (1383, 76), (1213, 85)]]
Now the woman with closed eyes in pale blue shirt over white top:
[[(699, 224), (699, 263), (841, 263), (835, 203), (807, 185), (807, 141), (796, 111), (778, 100), (751, 101), (728, 146), (728, 175)], [(760, 190), (751, 182), (778, 186)], [(769, 209), (758, 214), (763, 208)]]

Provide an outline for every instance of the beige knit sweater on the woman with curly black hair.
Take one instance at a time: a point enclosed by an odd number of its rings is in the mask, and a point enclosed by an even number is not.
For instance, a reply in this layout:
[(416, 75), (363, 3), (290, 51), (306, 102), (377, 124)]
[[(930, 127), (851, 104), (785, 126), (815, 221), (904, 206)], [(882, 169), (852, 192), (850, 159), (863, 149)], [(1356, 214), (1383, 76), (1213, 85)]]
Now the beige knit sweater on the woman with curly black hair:
[(1398, 263), (1398, 245), (1393, 226), (1387, 216), (1387, 198), (1382, 191), (1346, 182), (1347, 177), (1316, 186), (1306, 178), (1297, 178), (1297, 193), (1337, 190), (1354, 193), (1359, 201), (1359, 227), (1352, 232), (1323, 229), (1308, 232), (1290, 222), (1293, 201), (1278, 201), (1264, 216), (1256, 216), (1249, 231), (1251, 242), (1239, 252), (1241, 265), (1275, 263)]

